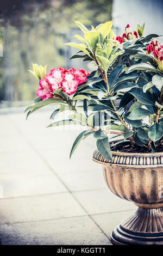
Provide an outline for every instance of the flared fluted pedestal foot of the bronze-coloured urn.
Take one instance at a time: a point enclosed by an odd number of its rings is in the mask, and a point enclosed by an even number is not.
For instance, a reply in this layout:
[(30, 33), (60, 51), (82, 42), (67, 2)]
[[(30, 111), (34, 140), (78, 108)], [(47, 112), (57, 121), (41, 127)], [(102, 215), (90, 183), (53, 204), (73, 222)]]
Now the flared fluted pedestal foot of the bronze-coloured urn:
[(111, 234), (114, 245), (163, 245), (163, 208), (138, 208)]

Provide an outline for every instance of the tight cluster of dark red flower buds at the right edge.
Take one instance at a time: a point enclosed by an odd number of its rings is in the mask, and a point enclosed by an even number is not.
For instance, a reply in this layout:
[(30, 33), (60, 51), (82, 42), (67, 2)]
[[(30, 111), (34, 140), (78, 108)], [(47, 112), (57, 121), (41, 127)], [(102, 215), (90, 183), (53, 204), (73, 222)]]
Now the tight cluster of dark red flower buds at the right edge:
[(163, 71), (163, 45), (160, 44), (155, 38), (152, 38), (152, 41), (146, 48), (147, 54), (153, 54), (156, 62), (158, 63), (159, 69)]

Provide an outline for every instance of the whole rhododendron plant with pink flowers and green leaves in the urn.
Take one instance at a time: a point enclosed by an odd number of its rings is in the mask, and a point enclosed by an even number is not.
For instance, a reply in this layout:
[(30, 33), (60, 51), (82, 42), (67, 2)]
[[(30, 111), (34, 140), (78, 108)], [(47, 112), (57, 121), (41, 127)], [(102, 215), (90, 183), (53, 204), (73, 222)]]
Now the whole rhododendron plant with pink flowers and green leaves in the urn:
[[(108, 21), (90, 29), (75, 21), (83, 36), (75, 35), (79, 44), (73, 58), (95, 64), (95, 70), (52, 69), (33, 64), (32, 74), (40, 88), (27, 117), (48, 104), (59, 105), (48, 127), (78, 124), (85, 127), (74, 141), (72, 156), (82, 139), (93, 135), (97, 149), (108, 160), (111, 149), (134, 148), (139, 152), (156, 152), (163, 143), (163, 46), (156, 34), (143, 36), (145, 25), (137, 32), (127, 25), (122, 36), (115, 35)], [(69, 96), (71, 95), (71, 96)], [(65, 120), (55, 120), (69, 109)], [(110, 144), (110, 136), (116, 143)]]

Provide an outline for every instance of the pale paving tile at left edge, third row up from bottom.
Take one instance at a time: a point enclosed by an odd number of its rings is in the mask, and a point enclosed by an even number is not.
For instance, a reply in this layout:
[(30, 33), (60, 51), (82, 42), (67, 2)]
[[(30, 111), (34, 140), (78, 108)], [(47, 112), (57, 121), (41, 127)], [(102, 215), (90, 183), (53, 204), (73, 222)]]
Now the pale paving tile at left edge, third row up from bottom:
[(59, 179), (51, 175), (1, 175), (0, 184), (3, 187), (3, 197), (24, 197), (41, 194), (67, 192)]

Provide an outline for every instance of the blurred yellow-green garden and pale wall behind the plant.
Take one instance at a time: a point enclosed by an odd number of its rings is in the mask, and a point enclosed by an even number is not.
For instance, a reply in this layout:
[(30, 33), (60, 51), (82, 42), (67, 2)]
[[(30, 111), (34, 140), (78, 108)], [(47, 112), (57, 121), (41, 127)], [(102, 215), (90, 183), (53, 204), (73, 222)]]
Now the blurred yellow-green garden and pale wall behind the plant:
[(85, 26), (112, 20), (117, 35), (127, 23), (136, 30), (143, 22), (145, 34), (162, 33), (161, 0), (0, 0), (0, 9), (0, 107), (34, 99), (38, 84), (27, 71), (31, 63), (48, 64), (47, 71), (60, 66), (89, 69), (86, 62), (70, 60), (76, 51), (65, 46), (81, 34), (73, 20)]

